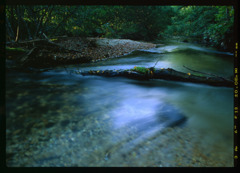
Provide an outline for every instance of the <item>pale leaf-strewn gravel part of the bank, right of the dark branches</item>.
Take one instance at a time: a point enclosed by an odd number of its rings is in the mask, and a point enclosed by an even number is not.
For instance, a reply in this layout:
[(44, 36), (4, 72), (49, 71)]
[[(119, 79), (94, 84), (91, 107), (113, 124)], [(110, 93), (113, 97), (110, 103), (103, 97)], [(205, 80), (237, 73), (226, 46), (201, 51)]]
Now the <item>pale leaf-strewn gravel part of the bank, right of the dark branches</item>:
[(66, 37), (55, 41), (68, 49), (78, 50), (81, 53), (54, 53), (58, 60), (74, 62), (95, 62), (127, 55), (139, 49), (150, 49), (156, 44), (133, 41), (129, 39), (107, 39), (107, 38), (79, 38)]

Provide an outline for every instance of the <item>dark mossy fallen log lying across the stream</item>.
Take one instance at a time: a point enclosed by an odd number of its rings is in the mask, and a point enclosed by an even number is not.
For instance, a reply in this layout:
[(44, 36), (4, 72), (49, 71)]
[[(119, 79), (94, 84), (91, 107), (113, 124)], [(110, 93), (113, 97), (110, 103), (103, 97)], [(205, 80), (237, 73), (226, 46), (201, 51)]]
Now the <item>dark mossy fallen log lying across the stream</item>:
[[(144, 67), (141, 67), (144, 68)], [(231, 80), (225, 80), (219, 77), (209, 76), (197, 76), (190, 73), (183, 73), (176, 71), (172, 68), (168, 69), (156, 69), (156, 68), (145, 68), (145, 71), (137, 71), (136, 69), (127, 70), (90, 70), (85, 72), (75, 72), (81, 75), (97, 75), (105, 77), (127, 77), (138, 80), (149, 80), (149, 79), (164, 79), (171, 81), (182, 81), (192, 83), (202, 83), (212, 86), (224, 86), (233, 87)]]

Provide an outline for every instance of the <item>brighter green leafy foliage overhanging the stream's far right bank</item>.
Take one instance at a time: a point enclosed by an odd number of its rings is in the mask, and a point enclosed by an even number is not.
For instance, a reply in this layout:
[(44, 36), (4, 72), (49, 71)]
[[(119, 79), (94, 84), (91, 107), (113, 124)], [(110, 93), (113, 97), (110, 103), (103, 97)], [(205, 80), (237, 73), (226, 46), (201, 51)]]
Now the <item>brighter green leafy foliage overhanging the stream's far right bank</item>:
[(183, 36), (223, 49), (233, 44), (234, 10), (231, 6), (174, 6), (166, 36)]

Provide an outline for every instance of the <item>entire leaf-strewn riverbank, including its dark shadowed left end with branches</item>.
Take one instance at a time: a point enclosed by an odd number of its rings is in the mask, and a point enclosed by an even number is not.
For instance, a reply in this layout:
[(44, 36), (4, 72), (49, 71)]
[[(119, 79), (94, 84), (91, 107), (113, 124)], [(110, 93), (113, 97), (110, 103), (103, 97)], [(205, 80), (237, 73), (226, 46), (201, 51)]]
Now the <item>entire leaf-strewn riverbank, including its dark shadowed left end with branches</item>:
[(46, 67), (97, 62), (127, 55), (139, 49), (154, 48), (156, 44), (129, 39), (57, 37), (49, 41), (20, 42), (9, 47), (22, 48), (26, 54), (19, 58), (7, 51), (8, 59), (18, 59), (26, 66)]

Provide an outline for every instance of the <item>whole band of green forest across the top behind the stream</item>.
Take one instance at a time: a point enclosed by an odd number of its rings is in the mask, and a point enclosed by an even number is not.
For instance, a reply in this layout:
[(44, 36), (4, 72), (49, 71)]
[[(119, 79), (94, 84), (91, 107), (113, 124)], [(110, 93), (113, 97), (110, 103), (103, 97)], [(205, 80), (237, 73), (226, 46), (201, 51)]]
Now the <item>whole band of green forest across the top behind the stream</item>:
[(155, 41), (180, 38), (233, 51), (233, 6), (6, 7), (6, 40), (68, 37)]

